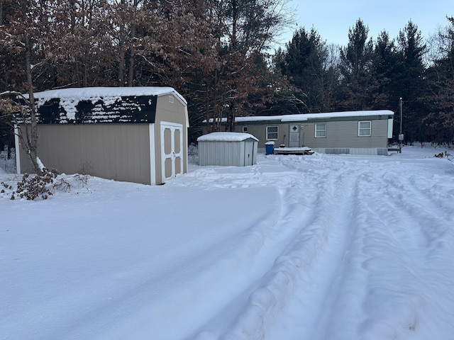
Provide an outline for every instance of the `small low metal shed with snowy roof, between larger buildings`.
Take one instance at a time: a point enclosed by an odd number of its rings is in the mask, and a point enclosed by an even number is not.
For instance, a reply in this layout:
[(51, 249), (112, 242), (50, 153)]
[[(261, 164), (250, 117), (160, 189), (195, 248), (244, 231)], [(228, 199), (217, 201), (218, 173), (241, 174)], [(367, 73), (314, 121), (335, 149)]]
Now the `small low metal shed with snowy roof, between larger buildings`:
[(258, 139), (243, 132), (212, 132), (197, 138), (199, 165), (257, 164)]

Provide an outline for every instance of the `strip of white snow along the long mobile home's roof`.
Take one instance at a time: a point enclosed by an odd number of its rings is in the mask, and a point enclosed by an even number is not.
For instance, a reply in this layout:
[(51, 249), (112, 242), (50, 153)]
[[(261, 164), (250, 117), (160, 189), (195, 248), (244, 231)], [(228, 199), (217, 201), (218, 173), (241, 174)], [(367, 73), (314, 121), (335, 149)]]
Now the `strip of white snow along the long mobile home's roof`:
[[(343, 111), (328, 113), (303, 113), (297, 115), (251, 115), (248, 117), (236, 117), (236, 123), (241, 122), (261, 122), (265, 120), (277, 120), (281, 122), (294, 122), (301, 120), (311, 120), (320, 118), (340, 118), (340, 117), (370, 117), (374, 115), (394, 115), (390, 110), (372, 110), (372, 111)], [(227, 118), (221, 118), (221, 122), (226, 122)], [(213, 119), (210, 119), (210, 123)], [(206, 120), (204, 120), (206, 123)]]

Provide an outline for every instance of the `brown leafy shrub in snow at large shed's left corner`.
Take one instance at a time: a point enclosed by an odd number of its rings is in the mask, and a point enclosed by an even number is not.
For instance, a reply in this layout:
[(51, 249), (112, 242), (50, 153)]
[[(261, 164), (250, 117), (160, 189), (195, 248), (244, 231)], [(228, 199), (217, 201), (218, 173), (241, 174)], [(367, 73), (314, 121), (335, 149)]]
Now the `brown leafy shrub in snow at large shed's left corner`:
[(52, 195), (48, 185), (52, 184), (56, 177), (57, 170), (47, 168), (43, 168), (40, 175), (23, 174), (22, 181), (17, 183), (16, 191), (11, 194), (11, 200), (16, 198), (15, 193), (27, 200), (35, 200), (38, 197), (47, 200)]

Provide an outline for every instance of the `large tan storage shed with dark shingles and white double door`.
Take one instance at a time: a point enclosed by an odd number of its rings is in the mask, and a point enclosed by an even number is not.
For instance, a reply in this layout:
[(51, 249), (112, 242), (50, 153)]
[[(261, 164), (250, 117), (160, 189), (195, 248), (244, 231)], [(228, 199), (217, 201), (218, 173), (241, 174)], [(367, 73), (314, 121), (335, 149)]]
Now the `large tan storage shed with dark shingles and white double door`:
[[(152, 185), (187, 172), (187, 102), (171, 87), (51, 90), (35, 101), (49, 169)], [(16, 137), (18, 173), (33, 171), (19, 146)]]

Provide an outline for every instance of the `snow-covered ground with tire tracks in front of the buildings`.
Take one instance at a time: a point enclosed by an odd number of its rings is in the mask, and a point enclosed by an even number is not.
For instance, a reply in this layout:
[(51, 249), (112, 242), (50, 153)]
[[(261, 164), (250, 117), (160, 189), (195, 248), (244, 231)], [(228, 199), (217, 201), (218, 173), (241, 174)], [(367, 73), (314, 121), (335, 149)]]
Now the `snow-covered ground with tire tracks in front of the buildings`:
[(0, 193), (0, 339), (453, 339), (443, 151), (259, 155), (165, 186), (62, 176), (70, 192), (48, 200)]

